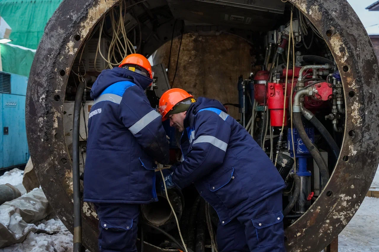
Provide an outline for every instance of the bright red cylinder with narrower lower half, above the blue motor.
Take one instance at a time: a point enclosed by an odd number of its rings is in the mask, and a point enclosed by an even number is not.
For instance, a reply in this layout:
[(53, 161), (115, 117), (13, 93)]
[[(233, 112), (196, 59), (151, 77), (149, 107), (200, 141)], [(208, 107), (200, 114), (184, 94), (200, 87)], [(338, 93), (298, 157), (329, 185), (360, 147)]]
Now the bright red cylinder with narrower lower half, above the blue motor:
[[(284, 104), (284, 89), (282, 83), (268, 84), (267, 106), (270, 110), (270, 124), (273, 127), (281, 127), (283, 124), (283, 104)], [(288, 90), (288, 87), (287, 87)], [(286, 109), (288, 109), (288, 97), (286, 98)], [(284, 126), (287, 126), (287, 110), (284, 115)]]

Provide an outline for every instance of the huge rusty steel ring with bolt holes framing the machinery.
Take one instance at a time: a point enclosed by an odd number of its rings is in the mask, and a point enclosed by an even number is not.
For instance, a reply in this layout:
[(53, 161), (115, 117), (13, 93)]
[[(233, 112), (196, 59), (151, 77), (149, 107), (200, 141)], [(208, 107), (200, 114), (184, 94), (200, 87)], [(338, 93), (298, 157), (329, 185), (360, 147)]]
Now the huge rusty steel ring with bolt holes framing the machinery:
[[(28, 83), (26, 124), (33, 164), (45, 195), (71, 232), (72, 163), (63, 129), (67, 75), (85, 37), (116, 2), (64, 0), (45, 28)], [(326, 39), (346, 101), (345, 137), (334, 173), (312, 207), (286, 230), (288, 251), (320, 251), (352, 218), (374, 177), (379, 159), (378, 62), (365, 28), (346, 0), (290, 2)], [(169, 23), (166, 26), (170, 28)], [(163, 44), (150, 41), (148, 54)], [(91, 204), (82, 207), (83, 243), (97, 251), (97, 215)]]

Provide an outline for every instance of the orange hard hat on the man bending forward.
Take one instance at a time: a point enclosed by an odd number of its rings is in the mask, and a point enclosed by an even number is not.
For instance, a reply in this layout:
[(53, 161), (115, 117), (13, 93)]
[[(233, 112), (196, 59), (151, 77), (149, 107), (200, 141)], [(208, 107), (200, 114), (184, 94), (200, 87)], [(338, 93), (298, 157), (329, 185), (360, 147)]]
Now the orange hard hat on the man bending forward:
[[(188, 98), (193, 98), (188, 92), (183, 89), (169, 89), (163, 93), (159, 99), (158, 111), (162, 115), (162, 121), (167, 119), (167, 113), (172, 110), (175, 105)], [(192, 101), (194, 102), (194, 101)]]

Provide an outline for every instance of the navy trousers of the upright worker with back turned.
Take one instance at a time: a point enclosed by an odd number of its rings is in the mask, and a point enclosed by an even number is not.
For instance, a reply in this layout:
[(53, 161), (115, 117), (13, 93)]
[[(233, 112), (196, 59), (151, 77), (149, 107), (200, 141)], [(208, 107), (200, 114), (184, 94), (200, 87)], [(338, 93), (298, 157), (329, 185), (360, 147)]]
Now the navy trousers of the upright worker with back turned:
[(99, 250), (137, 252), (138, 204), (97, 203)]

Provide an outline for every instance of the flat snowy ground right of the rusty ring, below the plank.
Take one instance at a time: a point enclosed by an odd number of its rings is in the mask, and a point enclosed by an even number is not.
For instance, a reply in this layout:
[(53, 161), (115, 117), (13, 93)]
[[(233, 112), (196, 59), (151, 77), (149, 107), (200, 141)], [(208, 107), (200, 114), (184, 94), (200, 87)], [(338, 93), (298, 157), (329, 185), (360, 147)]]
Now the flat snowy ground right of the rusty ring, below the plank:
[(338, 235), (339, 252), (379, 251), (379, 199), (366, 197), (349, 224)]

